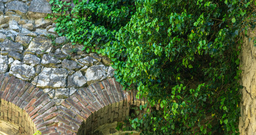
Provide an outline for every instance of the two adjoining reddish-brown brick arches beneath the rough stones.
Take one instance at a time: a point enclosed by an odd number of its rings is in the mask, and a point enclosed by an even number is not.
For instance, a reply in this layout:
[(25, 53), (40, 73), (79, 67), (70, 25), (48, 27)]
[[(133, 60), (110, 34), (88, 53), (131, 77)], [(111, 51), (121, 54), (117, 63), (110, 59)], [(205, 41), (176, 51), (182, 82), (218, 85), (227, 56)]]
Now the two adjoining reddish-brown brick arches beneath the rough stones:
[[(24, 134), (89, 134), (99, 125), (124, 120), (130, 106), (145, 103), (136, 99), (135, 91), (123, 91), (115, 78), (79, 88), (60, 105), (14, 76), (0, 74), (0, 85), (0, 119), (18, 125)], [(85, 129), (83, 124), (93, 127)]]

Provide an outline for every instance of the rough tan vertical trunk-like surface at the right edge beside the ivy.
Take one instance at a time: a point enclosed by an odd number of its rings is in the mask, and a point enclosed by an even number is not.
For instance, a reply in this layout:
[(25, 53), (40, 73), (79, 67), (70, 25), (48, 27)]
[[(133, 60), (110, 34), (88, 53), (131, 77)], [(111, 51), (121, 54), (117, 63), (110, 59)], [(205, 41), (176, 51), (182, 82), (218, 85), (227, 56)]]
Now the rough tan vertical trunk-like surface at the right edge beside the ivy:
[(244, 38), (244, 44), (240, 53), (241, 74), (241, 117), (239, 119), (239, 131), (241, 135), (256, 134), (256, 47), (253, 38), (255, 30), (249, 32), (249, 38)]

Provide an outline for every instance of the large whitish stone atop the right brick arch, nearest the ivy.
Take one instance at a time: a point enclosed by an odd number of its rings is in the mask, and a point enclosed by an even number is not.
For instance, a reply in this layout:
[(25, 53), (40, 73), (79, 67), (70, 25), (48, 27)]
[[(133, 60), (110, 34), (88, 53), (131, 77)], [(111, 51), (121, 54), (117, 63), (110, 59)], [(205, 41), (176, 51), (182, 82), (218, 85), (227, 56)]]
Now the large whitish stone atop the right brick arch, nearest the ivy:
[(87, 79), (88, 84), (106, 79), (107, 78), (106, 66), (104, 65), (91, 66), (86, 70), (85, 77)]

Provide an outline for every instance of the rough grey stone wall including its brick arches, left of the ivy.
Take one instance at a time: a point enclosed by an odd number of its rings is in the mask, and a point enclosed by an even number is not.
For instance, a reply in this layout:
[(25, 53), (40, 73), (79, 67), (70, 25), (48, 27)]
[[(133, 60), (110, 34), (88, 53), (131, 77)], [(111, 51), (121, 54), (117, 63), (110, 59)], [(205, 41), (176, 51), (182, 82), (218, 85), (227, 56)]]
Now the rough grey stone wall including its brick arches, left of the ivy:
[(47, 13), (46, 0), (0, 1), (0, 120), (18, 134), (94, 134), (145, 104), (122, 90), (106, 56), (59, 37)]

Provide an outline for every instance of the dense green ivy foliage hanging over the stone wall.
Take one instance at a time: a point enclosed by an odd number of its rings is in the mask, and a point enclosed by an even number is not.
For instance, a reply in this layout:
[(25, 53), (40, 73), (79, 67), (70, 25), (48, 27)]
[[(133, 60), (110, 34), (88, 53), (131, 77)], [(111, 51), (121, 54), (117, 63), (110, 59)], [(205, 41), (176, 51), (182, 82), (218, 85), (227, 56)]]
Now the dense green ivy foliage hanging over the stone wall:
[(255, 26), (255, 1), (50, 3), (59, 35), (84, 44), (86, 52), (107, 55), (124, 88), (137, 88), (137, 97), (160, 105), (131, 120), (134, 129), (239, 134), (238, 55), (242, 37)]

